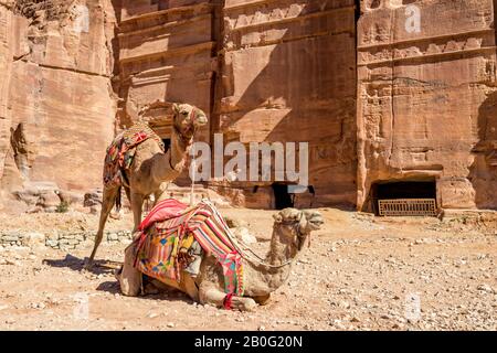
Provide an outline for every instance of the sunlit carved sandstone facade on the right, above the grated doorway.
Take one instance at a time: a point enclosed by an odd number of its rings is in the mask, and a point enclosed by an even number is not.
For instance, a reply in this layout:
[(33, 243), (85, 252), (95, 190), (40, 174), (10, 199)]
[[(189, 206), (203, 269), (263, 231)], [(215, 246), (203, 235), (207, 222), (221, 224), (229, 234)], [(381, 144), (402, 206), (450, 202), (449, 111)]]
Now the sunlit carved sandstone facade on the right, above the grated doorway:
[(358, 205), (374, 182), (433, 178), (444, 208), (496, 207), (494, 2), (361, 4)]

